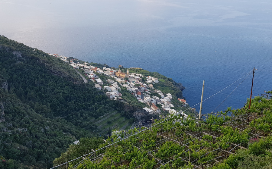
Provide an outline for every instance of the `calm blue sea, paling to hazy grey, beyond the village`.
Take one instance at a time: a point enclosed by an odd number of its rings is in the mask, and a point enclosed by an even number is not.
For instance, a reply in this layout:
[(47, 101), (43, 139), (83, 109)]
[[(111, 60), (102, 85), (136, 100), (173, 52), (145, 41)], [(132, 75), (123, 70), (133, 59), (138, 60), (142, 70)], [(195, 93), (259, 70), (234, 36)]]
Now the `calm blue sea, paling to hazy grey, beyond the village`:
[(141, 67), (202, 113), (272, 90), (270, 0), (0, 0), (0, 34), (44, 52)]

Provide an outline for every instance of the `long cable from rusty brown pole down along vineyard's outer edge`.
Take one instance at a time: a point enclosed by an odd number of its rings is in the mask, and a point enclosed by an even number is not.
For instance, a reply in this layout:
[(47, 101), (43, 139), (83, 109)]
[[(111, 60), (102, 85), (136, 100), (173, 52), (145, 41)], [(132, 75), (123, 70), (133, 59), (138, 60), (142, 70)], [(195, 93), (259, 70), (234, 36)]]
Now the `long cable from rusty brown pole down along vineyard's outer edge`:
[[(252, 71), (252, 70), (251, 70), (251, 71)], [(251, 71), (250, 71), (250, 72), (251, 72)], [(248, 72), (247, 74), (245, 74), (243, 77), (245, 77), (246, 75), (248, 75), (250, 72)], [(241, 77), (241, 78), (243, 78), (243, 77)], [(241, 79), (241, 78), (240, 78), (240, 79)], [(240, 80), (240, 79), (238, 79), (238, 80)], [(235, 82), (237, 82), (238, 80), (236, 80)], [(235, 82), (233, 82), (232, 84), (234, 84)], [(231, 86), (232, 84), (228, 85), (228, 86), (225, 87), (224, 89), (228, 88), (228, 87)], [(222, 90), (224, 90), (224, 89), (222, 89)], [(219, 92), (221, 92), (222, 90), (220, 90)], [(219, 93), (219, 92), (217, 92), (217, 93)], [(215, 93), (214, 95), (216, 95), (217, 93)], [(214, 95), (211, 95), (211, 96), (208, 97), (207, 99), (211, 98), (211, 97), (214, 96)], [(207, 99), (205, 99), (205, 100), (207, 100)], [(204, 102), (205, 100), (203, 100), (202, 102)], [(196, 105), (198, 105), (198, 104), (200, 104), (200, 103), (201, 103), (201, 102), (197, 103)], [(193, 106), (190, 107), (190, 108), (193, 108), (193, 107), (196, 106), (196, 105), (193, 105)], [(184, 110), (183, 112), (189, 110), (190, 108)], [(173, 118), (173, 117), (169, 117), (169, 118), (167, 118), (167, 119), (161, 121), (160, 123), (154, 124), (154, 125), (151, 126), (151, 127), (157, 126), (158, 124), (161, 124), (161, 123), (163, 123), (164, 121), (169, 120), (170, 118)], [(151, 127), (147, 127), (146, 129), (141, 130), (141, 131), (139, 131), (138, 133), (141, 133), (141, 132), (143, 132), (143, 131), (145, 131), (145, 130), (148, 130), (148, 129), (150, 129)], [(118, 143), (118, 142), (120, 142), (120, 141), (123, 141), (123, 140), (125, 140), (125, 139), (127, 139), (127, 138), (129, 138), (129, 137), (131, 137), (131, 136), (134, 136), (134, 135), (136, 135), (136, 134), (138, 134), (138, 133), (134, 133), (134, 134), (132, 134), (132, 135), (126, 137), (126, 138), (123, 138), (123, 139), (121, 139), (121, 140), (119, 140), (119, 141), (117, 141), (117, 142), (114, 142), (114, 143), (112, 143), (112, 144), (109, 144), (109, 145), (107, 145), (107, 146), (105, 146), (105, 147), (102, 147), (102, 148), (100, 148), (100, 149), (98, 149), (98, 150), (95, 150), (95, 151), (93, 151), (93, 152), (90, 152), (90, 153), (88, 153), (88, 154), (85, 154), (85, 155), (83, 155), (83, 156), (80, 156), (80, 157), (75, 158), (75, 159), (73, 159), (73, 160), (67, 161), (67, 162), (65, 162), (65, 163), (63, 163), (63, 164), (66, 164), (66, 163), (75, 161), (75, 160), (77, 160), (77, 159), (79, 159), (79, 158), (82, 158), (82, 157), (84, 157), (84, 156), (86, 156), (86, 155), (90, 155), (90, 154), (92, 154), (92, 153), (94, 153), (94, 152), (97, 152), (97, 151), (99, 151), (99, 150), (105, 149), (106, 147), (112, 146), (112, 145), (114, 145), (115, 143)], [(57, 165), (57, 166), (52, 167), (52, 168), (50, 168), (50, 169), (53, 169), (53, 168), (56, 168), (56, 167), (60, 167), (60, 166), (62, 166), (63, 164)]]

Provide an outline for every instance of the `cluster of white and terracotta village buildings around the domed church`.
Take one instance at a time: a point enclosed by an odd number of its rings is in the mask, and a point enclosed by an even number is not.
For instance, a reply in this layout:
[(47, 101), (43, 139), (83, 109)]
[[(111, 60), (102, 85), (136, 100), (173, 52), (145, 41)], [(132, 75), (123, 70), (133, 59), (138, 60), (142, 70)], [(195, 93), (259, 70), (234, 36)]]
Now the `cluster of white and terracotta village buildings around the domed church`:
[[(172, 100), (173, 97), (170, 93), (163, 93), (158, 89), (155, 89), (153, 84), (160, 83), (158, 78), (143, 76), (142, 74), (130, 73), (129, 69), (127, 69), (126, 73), (123, 73), (121, 69), (122, 65), (119, 65), (118, 69), (111, 69), (108, 67), (98, 68), (90, 65), (87, 62), (78, 63), (74, 61), (75, 59), (69, 59), (63, 55), (57, 54), (49, 54), (51, 56), (60, 58), (61, 60), (69, 63), (75, 69), (81, 69), (84, 72), (84, 75), (88, 77), (88, 81), (94, 82), (95, 88), (97, 90), (104, 90), (106, 96), (109, 99), (121, 100), (123, 101), (122, 94), (120, 92), (120, 87), (125, 87), (131, 95), (133, 95), (139, 102), (144, 103), (146, 107), (144, 107), (144, 111), (149, 114), (159, 114), (161, 110), (164, 112), (168, 112), (169, 114), (179, 114), (183, 117), (188, 117), (183, 111), (177, 111), (174, 109), (175, 105), (173, 105)], [(102, 81), (99, 78), (99, 74), (103, 74), (104, 76), (109, 77), (107, 80)], [(145, 77), (146, 81), (142, 80), (142, 77)], [(150, 92), (156, 92), (160, 96), (151, 96)], [(188, 105), (185, 99), (177, 99), (182, 106)], [(160, 105), (158, 108), (158, 105)], [(192, 112), (195, 112), (196, 109), (192, 108)]]

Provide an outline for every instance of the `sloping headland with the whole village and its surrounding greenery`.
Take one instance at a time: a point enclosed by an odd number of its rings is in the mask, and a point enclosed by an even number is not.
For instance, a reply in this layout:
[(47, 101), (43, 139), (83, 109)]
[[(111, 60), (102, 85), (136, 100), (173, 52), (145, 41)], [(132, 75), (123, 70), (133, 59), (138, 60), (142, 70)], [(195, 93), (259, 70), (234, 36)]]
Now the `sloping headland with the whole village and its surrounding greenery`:
[[(49, 54), (70, 64), (83, 78), (84, 83), (91, 83), (97, 90), (105, 92), (111, 100), (138, 105), (149, 115), (165, 118), (169, 114), (180, 114), (184, 117), (195, 115), (195, 108), (183, 97), (185, 87), (172, 78), (157, 72), (150, 72), (140, 67), (118, 68), (107, 64), (81, 61), (73, 57)], [(87, 82), (86, 82), (87, 81)]]

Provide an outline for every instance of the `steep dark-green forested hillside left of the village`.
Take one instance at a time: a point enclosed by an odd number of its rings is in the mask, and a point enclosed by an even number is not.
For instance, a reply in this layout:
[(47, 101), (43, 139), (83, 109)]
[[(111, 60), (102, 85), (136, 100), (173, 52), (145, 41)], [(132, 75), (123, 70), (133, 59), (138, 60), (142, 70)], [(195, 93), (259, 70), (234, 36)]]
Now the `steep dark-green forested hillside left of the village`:
[(0, 168), (49, 168), (76, 139), (95, 136), (94, 118), (137, 109), (108, 100), (60, 59), (0, 36)]

